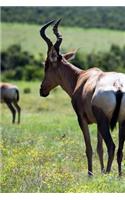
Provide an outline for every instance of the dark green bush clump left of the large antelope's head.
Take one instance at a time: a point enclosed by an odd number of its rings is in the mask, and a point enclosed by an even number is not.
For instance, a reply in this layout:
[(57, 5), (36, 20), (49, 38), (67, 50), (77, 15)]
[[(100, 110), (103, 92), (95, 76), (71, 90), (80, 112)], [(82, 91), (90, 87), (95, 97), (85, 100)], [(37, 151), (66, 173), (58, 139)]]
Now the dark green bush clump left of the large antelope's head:
[(1, 52), (2, 80), (36, 80), (42, 79), (43, 70), (41, 60), (43, 55), (35, 59), (27, 51), (22, 51), (18, 44), (11, 45), (4, 52)]

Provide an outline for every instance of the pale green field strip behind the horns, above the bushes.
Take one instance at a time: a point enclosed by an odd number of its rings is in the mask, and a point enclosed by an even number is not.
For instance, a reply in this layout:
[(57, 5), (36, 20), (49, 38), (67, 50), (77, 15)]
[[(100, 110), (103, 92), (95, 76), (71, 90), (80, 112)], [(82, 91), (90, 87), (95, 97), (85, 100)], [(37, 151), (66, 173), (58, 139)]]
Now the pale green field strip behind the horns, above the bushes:
[[(41, 24), (42, 26), (42, 24)], [(21, 44), (23, 50), (27, 50), (38, 56), (42, 52), (46, 54), (46, 45), (41, 40), (39, 25), (2, 23), (2, 50), (12, 44)], [(62, 49), (70, 51), (79, 49), (81, 53), (108, 51), (112, 44), (125, 45), (125, 31), (106, 29), (82, 29), (61, 27), (63, 35)], [(47, 30), (50, 38), (55, 41), (51, 28)]]

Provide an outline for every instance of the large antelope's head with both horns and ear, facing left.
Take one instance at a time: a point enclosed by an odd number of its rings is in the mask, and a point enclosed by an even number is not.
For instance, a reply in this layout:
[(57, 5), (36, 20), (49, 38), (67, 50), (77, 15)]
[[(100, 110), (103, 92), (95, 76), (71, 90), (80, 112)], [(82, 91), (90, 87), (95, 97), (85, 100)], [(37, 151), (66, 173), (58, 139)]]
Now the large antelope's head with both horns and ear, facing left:
[(58, 32), (58, 25), (60, 21), (61, 19), (59, 19), (53, 26), (53, 33), (57, 39), (54, 45), (46, 36), (45, 30), (48, 26), (53, 24), (55, 20), (48, 22), (40, 30), (40, 35), (48, 46), (47, 58), (45, 60), (44, 78), (40, 86), (40, 96), (43, 97), (48, 96), (50, 91), (59, 85), (58, 69), (62, 66), (62, 61), (64, 59), (71, 60), (75, 54), (75, 52), (70, 52), (65, 55), (61, 55), (60, 53), (60, 45), (62, 43), (62, 35)]

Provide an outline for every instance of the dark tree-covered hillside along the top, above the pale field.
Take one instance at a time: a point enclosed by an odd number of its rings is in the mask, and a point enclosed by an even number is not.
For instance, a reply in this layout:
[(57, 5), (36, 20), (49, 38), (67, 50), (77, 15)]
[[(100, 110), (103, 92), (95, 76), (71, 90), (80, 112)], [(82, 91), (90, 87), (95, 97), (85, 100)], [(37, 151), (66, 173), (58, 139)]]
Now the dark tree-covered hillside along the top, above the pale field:
[(2, 7), (2, 22), (43, 24), (62, 18), (63, 26), (125, 30), (125, 7)]

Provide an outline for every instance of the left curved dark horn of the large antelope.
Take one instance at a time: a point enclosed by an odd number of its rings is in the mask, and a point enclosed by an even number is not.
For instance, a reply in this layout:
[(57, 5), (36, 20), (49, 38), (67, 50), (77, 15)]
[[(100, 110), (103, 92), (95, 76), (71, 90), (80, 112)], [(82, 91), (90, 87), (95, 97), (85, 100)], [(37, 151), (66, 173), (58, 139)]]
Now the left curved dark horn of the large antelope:
[(51, 40), (45, 35), (45, 30), (46, 28), (51, 25), (55, 20), (52, 20), (50, 22), (48, 22), (47, 24), (45, 24), (41, 29), (40, 29), (40, 35), (41, 37), (45, 40), (45, 42), (48, 45), (48, 50), (53, 46)]

